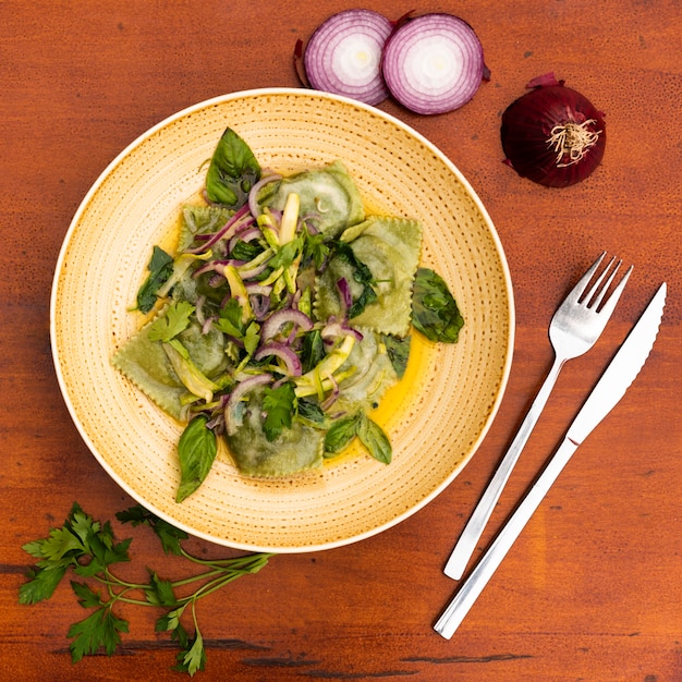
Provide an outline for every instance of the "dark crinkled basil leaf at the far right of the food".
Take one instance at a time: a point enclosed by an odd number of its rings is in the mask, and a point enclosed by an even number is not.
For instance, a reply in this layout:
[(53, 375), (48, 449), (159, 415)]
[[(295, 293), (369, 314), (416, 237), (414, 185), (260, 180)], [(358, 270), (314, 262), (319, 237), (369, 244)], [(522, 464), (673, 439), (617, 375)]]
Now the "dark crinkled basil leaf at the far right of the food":
[(412, 295), (412, 324), (430, 341), (456, 343), (464, 318), (443, 279), (419, 268)]

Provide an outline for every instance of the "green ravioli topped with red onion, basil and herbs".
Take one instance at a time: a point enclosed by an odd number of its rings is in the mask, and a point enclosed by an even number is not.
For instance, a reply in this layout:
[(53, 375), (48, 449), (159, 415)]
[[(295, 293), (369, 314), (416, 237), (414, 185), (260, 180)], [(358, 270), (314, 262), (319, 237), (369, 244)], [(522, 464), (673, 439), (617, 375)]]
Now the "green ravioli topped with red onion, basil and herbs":
[(112, 356), (185, 425), (176, 501), (206, 479), (219, 439), (245, 476), (319, 468), (355, 439), (389, 464), (372, 412), (403, 376), (413, 330), (453, 343), (464, 324), (419, 267), (419, 222), (367, 215), (341, 161), (266, 171), (227, 129), (180, 223), (138, 290), (147, 321)]

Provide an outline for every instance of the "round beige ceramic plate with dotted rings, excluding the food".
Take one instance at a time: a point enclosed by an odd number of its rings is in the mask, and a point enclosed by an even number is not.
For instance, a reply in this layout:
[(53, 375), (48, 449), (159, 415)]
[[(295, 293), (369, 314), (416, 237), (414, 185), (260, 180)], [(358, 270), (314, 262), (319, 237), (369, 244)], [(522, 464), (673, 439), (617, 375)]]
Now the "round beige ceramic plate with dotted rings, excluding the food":
[[(376, 415), (393, 462), (351, 452), (315, 473), (240, 476), (221, 453), (200, 489), (175, 503), (182, 425), (115, 372), (138, 328), (129, 312), (154, 244), (168, 244), (181, 204), (203, 186), (227, 126), (264, 168), (283, 173), (341, 159), (373, 211), (424, 226), (422, 263), (448, 282), (465, 326), (452, 345), (416, 344), (407, 376)], [(509, 270), (496, 230), (461, 172), (399, 120), (302, 89), (200, 102), (130, 145), (90, 188), (54, 276), (51, 337), (64, 400), (85, 442), (134, 499), (175, 526), (246, 550), (327, 549), (383, 531), (438, 495), (474, 454), (496, 414), (513, 346)]]

